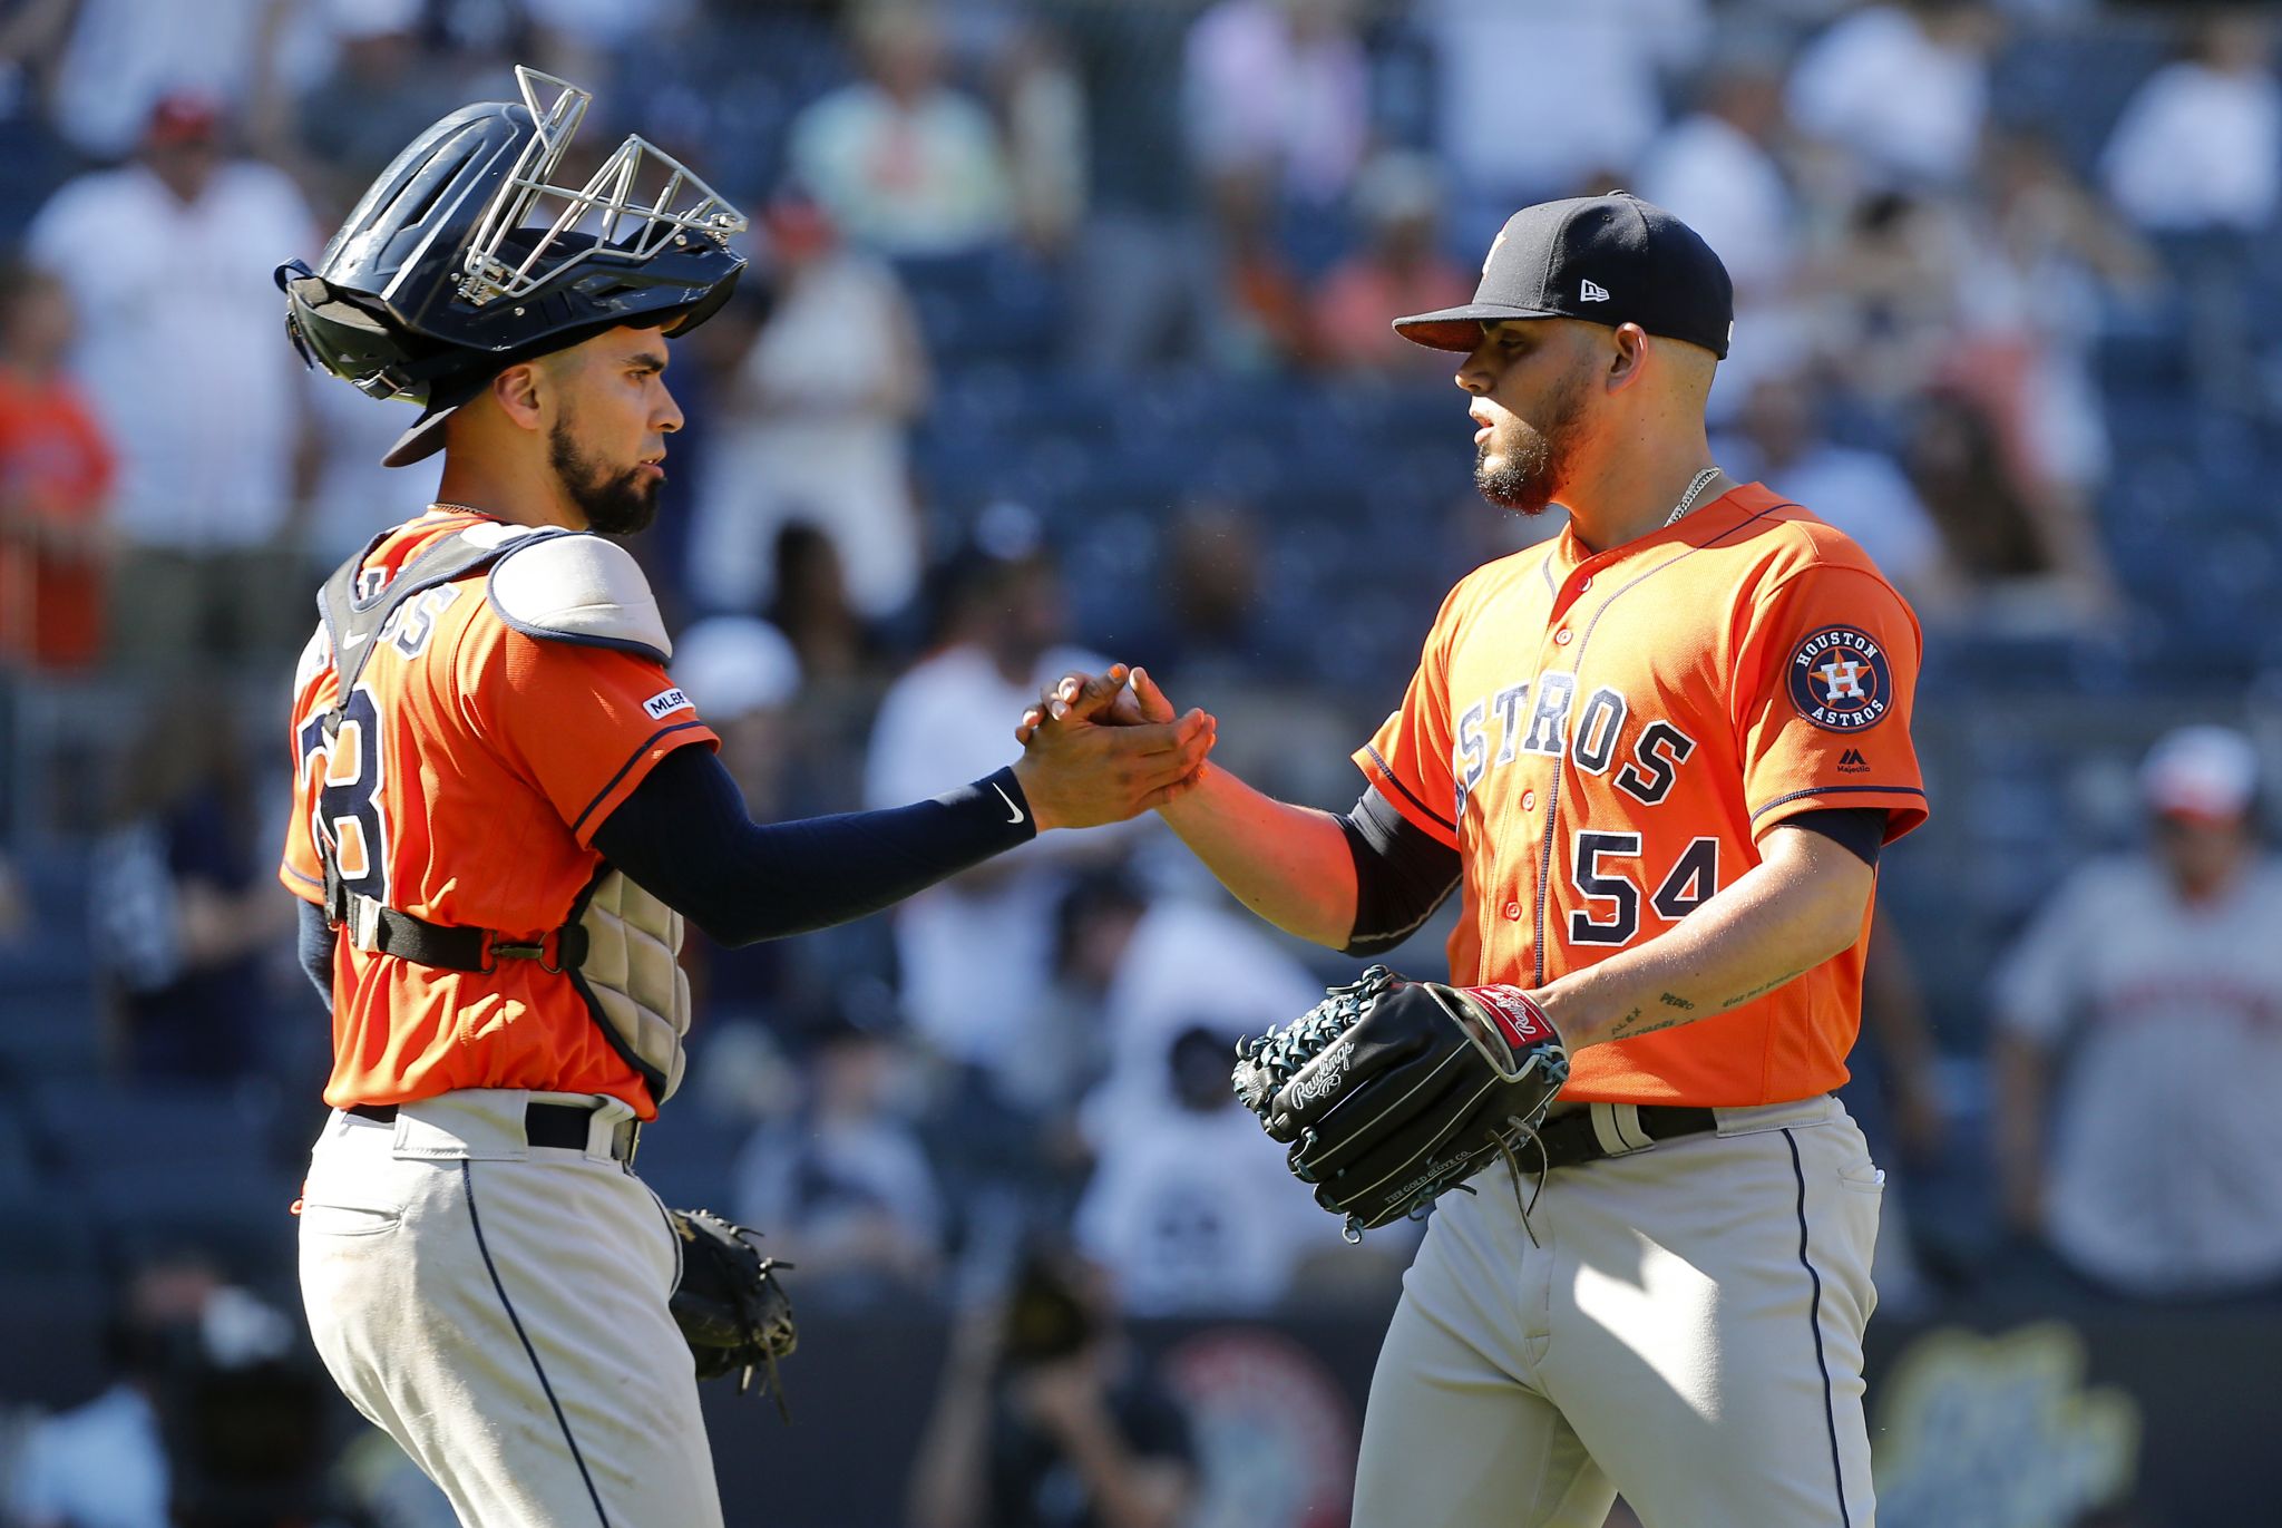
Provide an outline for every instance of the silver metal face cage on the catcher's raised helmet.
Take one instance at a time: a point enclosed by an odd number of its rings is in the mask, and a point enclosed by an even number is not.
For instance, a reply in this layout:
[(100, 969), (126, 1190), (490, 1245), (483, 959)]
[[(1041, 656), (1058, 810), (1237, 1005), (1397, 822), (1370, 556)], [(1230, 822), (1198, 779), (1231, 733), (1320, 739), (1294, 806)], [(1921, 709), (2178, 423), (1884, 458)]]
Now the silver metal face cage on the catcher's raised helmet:
[[(516, 66), (516, 87), (532, 112), (532, 137), (468, 240), (459, 281), (466, 301), (484, 306), (500, 297), (529, 297), (580, 260), (639, 265), (691, 238), (726, 247), (730, 235), (744, 231), (744, 212), (641, 135), (628, 135), (586, 185), (555, 185), (593, 91), (523, 64)], [(550, 100), (541, 105), (543, 94)], [(561, 210), (539, 222), (545, 215), (541, 203), (555, 201)]]

